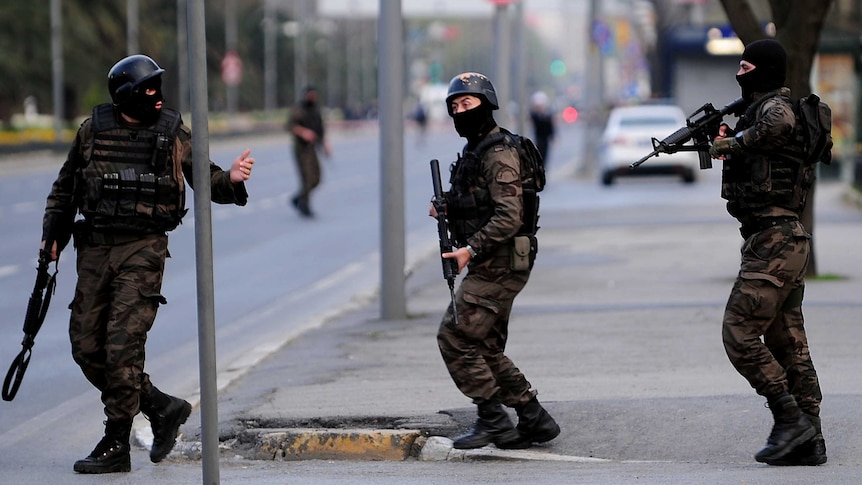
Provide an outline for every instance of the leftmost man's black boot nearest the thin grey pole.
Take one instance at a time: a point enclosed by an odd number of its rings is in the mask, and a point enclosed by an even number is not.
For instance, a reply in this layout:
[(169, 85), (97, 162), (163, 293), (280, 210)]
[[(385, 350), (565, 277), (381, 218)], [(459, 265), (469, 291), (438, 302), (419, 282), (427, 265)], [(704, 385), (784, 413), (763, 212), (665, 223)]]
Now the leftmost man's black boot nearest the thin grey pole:
[(150, 420), (153, 429), (150, 461), (158, 463), (174, 449), (180, 425), (189, 418), (192, 405), (178, 397), (169, 396), (154, 386), (148, 395), (141, 396), (141, 412)]

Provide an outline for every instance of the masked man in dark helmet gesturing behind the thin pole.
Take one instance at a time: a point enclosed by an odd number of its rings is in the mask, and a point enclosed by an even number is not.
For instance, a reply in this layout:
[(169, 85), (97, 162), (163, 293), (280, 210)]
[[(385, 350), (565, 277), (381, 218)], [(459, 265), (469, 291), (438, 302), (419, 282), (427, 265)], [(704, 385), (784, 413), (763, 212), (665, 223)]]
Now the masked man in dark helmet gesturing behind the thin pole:
[[(161, 461), (191, 413), (188, 402), (157, 389), (144, 372), (147, 332), (167, 303), (166, 232), (186, 213), (185, 179), (192, 180), (191, 132), (179, 113), (162, 107), (163, 72), (144, 55), (111, 68), (113, 103), (96, 106), (79, 128), (45, 209), (42, 245), (54, 259), (74, 232), (72, 355), (101, 392), (107, 417), (105, 436), (75, 463), (79, 473), (131, 470), (129, 435), (138, 411), (152, 426), (150, 459)], [(210, 163), (212, 200), (245, 205), (253, 164), (248, 150), (229, 172)], [(75, 222), (77, 214), (83, 217)]]

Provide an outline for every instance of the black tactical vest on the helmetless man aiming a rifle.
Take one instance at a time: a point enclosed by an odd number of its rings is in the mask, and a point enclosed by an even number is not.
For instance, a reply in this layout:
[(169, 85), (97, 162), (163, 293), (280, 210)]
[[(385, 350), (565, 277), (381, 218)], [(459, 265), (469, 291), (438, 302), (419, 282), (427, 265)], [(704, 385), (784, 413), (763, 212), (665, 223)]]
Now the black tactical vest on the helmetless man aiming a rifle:
[[(737, 132), (752, 126), (760, 106), (772, 97), (764, 96), (749, 106), (740, 117)], [(786, 101), (792, 106), (790, 98)], [(795, 130), (801, 129), (797, 123)], [(770, 206), (794, 212), (802, 209), (814, 182), (814, 168), (804, 162), (805, 153), (799, 139), (800, 134), (796, 133), (787, 147), (769, 152), (743, 151), (724, 162), (721, 196), (728, 201), (731, 215), (745, 217)]]

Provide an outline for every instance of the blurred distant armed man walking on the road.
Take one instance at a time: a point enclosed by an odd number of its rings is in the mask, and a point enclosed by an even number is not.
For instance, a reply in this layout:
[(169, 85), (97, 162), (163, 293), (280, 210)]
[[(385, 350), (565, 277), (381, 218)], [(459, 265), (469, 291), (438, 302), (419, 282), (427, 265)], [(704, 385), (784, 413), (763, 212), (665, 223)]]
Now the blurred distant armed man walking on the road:
[(327, 157), (332, 153), (317, 103), (317, 90), (313, 86), (305, 88), (302, 99), (291, 109), (287, 131), (293, 135), (293, 157), (300, 179), (299, 190), (290, 202), (303, 217), (313, 217), (311, 192), (320, 185), (317, 150), (322, 149)]

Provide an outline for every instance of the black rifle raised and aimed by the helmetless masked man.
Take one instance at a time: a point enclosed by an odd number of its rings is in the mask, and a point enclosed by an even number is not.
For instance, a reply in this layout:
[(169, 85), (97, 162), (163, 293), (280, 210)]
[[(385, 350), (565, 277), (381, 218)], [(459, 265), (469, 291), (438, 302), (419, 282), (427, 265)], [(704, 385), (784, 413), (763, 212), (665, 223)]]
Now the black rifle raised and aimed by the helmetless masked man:
[[(712, 168), (709, 147), (712, 139), (718, 134), (722, 118), (727, 114), (741, 114), (745, 106), (746, 101), (743, 98), (734, 99), (720, 110), (715, 109), (712, 103), (706, 103), (686, 118), (685, 126), (671, 133), (664, 140), (659, 141), (653, 138), (652, 153), (629, 165), (629, 167), (637, 168), (640, 164), (652, 157), (657, 157), (660, 153), (670, 155), (676, 152), (697, 152), (700, 158), (700, 169)], [(694, 144), (686, 145), (685, 143), (689, 140), (694, 140)]]

